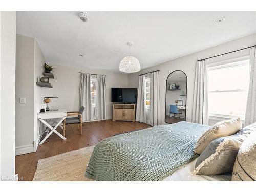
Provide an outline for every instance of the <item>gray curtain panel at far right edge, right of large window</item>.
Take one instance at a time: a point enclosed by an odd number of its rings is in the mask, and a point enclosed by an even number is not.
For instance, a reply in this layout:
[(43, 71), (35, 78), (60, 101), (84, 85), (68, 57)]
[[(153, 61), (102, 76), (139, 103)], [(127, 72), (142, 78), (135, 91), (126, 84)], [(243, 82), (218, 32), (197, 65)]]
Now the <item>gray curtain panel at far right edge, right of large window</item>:
[(244, 125), (256, 122), (256, 57), (255, 47), (250, 50), (250, 83)]

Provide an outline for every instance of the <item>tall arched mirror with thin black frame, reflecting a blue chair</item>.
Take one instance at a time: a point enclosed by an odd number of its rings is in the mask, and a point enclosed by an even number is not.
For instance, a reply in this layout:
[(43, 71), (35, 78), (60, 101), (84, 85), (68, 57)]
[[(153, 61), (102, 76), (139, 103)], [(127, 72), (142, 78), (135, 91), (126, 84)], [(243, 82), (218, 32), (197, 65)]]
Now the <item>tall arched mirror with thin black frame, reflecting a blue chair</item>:
[(177, 70), (166, 80), (165, 122), (177, 123), (186, 120), (187, 76)]

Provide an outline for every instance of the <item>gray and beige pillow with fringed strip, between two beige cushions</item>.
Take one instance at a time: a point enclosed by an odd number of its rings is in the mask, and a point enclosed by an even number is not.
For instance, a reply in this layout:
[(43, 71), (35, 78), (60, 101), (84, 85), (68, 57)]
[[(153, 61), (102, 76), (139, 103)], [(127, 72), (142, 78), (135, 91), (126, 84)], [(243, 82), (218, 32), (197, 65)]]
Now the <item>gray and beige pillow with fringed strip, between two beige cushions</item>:
[(256, 123), (244, 127), (234, 135), (212, 141), (198, 157), (194, 174), (217, 175), (232, 172), (242, 143), (255, 131)]

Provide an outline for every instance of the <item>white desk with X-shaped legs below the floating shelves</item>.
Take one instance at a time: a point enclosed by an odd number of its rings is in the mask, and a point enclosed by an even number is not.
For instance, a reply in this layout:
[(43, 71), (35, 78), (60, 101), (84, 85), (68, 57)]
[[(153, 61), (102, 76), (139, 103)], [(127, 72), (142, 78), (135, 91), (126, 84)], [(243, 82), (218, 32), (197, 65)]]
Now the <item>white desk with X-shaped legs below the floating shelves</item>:
[[(46, 137), (39, 143), (39, 145), (41, 145), (42, 143), (44, 143), (47, 138), (54, 132), (56, 133), (60, 138), (62, 138), (63, 140), (66, 140), (65, 137), (63, 137), (63, 135), (61, 135), (59, 132), (56, 131), (57, 127), (60, 126), (62, 129), (63, 127), (60, 125), (60, 123), (67, 117), (67, 110), (64, 108), (58, 109), (57, 111), (47, 111), (47, 112), (42, 112), (42, 113), (38, 113), (37, 114), (37, 119), (39, 121), (41, 121), (42, 123), (44, 123), (49, 130), (51, 130), (49, 132), (48, 130), (48, 134), (46, 135)], [(59, 121), (54, 121), (54, 125), (50, 125), (47, 121), (45, 121), (45, 119), (60, 119)], [(54, 127), (52, 127), (54, 126)]]

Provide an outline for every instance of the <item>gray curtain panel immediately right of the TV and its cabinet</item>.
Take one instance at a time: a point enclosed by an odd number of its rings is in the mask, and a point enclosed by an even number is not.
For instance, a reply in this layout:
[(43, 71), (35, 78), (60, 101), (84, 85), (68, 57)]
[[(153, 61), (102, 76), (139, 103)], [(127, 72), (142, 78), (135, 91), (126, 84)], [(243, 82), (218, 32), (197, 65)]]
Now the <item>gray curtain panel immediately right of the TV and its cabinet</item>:
[(139, 76), (139, 87), (137, 97), (136, 121), (146, 123), (146, 94), (145, 94), (145, 75)]

